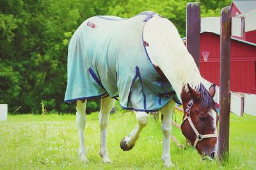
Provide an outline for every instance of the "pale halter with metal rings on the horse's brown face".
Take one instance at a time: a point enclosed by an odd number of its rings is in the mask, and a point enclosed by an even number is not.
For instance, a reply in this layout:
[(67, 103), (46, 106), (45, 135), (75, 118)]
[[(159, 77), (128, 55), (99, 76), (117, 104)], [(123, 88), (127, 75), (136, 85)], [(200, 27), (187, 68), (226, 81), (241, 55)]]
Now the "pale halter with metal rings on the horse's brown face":
[[(190, 126), (192, 127), (193, 131), (194, 131), (195, 134), (196, 134), (196, 139), (195, 139), (195, 142), (194, 142), (194, 147), (196, 147), (196, 144), (198, 143), (198, 141), (202, 141), (202, 139), (205, 139), (205, 138), (218, 138), (218, 137), (219, 137), (218, 134), (200, 134), (200, 133), (196, 130), (196, 127), (195, 127), (195, 125), (193, 124), (193, 122), (192, 122), (192, 120), (191, 120), (191, 117), (190, 117), (190, 110), (191, 110), (192, 106), (193, 106), (193, 101), (189, 101), (188, 106), (187, 106), (186, 111), (185, 111), (186, 116), (185, 116), (184, 119), (182, 120), (181, 125), (183, 124), (183, 122), (184, 122), (185, 120), (188, 119), (188, 122), (189, 122)], [(181, 125), (180, 125), (180, 127), (181, 127)]]

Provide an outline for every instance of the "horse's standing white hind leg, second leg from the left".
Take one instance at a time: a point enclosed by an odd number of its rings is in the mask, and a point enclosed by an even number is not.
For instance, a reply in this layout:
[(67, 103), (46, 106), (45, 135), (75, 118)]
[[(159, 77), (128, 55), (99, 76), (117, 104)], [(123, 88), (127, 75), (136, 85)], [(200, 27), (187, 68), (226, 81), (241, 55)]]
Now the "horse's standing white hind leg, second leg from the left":
[(100, 112), (99, 112), (99, 125), (100, 125), (100, 157), (104, 163), (110, 163), (107, 149), (107, 127), (109, 113), (115, 106), (115, 99), (105, 97), (101, 99)]

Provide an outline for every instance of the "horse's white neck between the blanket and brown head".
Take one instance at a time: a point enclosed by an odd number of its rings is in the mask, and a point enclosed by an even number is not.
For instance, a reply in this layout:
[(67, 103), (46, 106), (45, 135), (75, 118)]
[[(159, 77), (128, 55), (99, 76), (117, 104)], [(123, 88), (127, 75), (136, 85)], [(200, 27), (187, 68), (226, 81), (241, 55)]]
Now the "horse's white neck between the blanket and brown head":
[(188, 90), (187, 83), (198, 89), (200, 73), (172, 22), (153, 17), (145, 24), (143, 36), (148, 43), (147, 52), (151, 61), (163, 71), (179, 99), (182, 88), (185, 86)]

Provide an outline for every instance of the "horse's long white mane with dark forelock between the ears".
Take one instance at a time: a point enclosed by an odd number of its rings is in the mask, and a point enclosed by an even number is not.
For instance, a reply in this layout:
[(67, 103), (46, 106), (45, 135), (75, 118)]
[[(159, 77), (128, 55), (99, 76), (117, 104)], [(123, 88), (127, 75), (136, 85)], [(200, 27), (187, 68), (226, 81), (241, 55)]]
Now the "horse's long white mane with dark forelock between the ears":
[(168, 55), (172, 56), (173, 66), (177, 68), (179, 78), (182, 80), (182, 87), (188, 92), (187, 84), (189, 84), (192, 89), (201, 94), (201, 107), (203, 110), (208, 110), (209, 107), (214, 108), (214, 101), (208, 90), (202, 84), (202, 76), (195, 64), (195, 60), (188, 52), (184, 43), (180, 40), (178, 31), (173, 27), (172, 32), (166, 29), (166, 34), (168, 34), (166, 37), (170, 40), (168, 41), (166, 39), (165, 43), (168, 43), (169, 49), (172, 49), (166, 50), (166, 52), (169, 52)]

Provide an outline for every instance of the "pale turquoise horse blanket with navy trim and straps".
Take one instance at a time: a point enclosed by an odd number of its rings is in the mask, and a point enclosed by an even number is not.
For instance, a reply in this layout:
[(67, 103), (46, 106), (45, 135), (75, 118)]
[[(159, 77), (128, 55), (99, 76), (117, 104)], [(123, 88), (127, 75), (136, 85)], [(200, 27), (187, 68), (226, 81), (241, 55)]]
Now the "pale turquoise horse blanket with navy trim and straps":
[(68, 45), (68, 83), (65, 102), (119, 97), (129, 110), (157, 111), (175, 96), (172, 85), (160, 76), (147, 53), (143, 29), (157, 15), (145, 11), (124, 19), (88, 18)]

